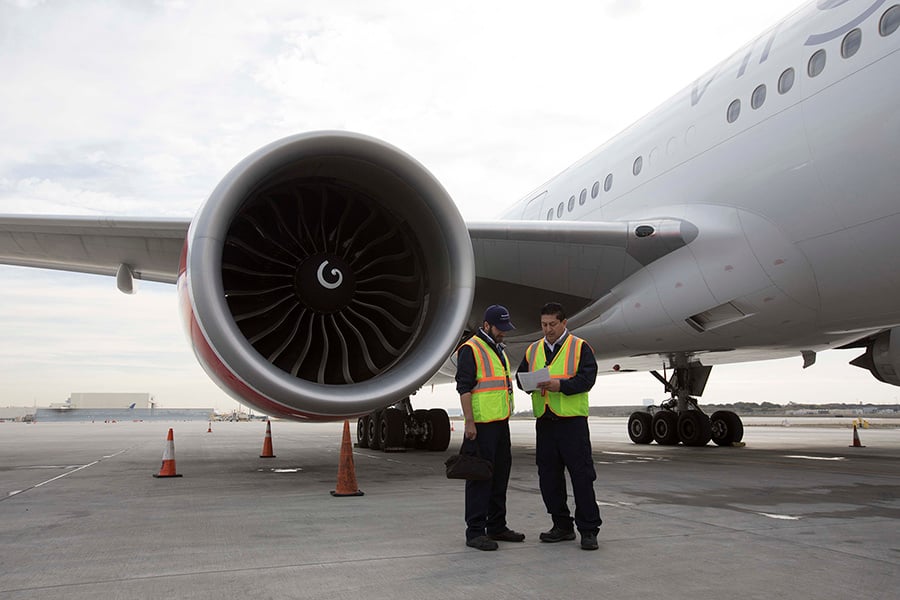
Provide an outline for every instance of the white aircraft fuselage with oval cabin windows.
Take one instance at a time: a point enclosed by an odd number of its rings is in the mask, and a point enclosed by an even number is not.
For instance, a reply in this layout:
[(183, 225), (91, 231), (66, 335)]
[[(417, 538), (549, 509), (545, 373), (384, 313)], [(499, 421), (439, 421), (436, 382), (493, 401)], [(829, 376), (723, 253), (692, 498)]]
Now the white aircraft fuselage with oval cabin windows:
[[(900, 323), (900, 31), (879, 34), (890, 4), (819, 4), (504, 215), (697, 226), (697, 239), (615, 286), (578, 329), (598, 358), (632, 356), (622, 368), (673, 352), (710, 364), (776, 358)], [(819, 51), (824, 69), (811, 76)], [(788, 69), (793, 85), (779, 90)]]

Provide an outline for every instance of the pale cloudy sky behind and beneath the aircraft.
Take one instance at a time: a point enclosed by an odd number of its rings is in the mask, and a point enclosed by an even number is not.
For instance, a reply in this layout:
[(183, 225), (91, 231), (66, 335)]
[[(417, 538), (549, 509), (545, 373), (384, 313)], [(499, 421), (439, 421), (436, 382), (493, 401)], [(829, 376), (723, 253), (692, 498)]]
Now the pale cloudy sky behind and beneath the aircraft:
[[(801, 4), (0, 0), (0, 213), (190, 218), (258, 147), (342, 129), (417, 158), (465, 219), (495, 218)], [(0, 267), (0, 331), (0, 406), (236, 406), (194, 359), (174, 286), (126, 296)], [(719, 366), (702, 400), (898, 402), (856, 354)], [(616, 375), (591, 403), (663, 396)], [(414, 404), (458, 398), (437, 386)]]

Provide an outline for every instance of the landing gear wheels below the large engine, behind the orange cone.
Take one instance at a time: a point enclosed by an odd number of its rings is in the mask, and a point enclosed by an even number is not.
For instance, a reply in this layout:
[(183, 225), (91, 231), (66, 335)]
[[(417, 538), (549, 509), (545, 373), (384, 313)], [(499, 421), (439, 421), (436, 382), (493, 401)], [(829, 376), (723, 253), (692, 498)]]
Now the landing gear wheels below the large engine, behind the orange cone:
[(357, 419), (356, 442), (372, 450), (443, 452), (450, 445), (450, 417), (441, 408), (413, 410), (409, 398), (404, 398)]

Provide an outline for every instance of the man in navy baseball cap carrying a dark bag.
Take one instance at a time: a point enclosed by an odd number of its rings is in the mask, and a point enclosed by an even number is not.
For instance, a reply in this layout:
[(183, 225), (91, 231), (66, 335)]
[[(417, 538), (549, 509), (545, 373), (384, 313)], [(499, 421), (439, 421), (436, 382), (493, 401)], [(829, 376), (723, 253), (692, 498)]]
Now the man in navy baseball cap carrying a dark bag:
[(497, 541), (523, 542), (525, 535), (506, 526), (506, 487), (512, 466), (509, 417), (513, 392), (503, 336), (515, 326), (505, 306), (484, 311), (478, 332), (457, 350), (456, 391), (465, 417), (464, 446), (477, 446), (494, 463), (487, 481), (466, 481), (466, 545), (496, 550)]

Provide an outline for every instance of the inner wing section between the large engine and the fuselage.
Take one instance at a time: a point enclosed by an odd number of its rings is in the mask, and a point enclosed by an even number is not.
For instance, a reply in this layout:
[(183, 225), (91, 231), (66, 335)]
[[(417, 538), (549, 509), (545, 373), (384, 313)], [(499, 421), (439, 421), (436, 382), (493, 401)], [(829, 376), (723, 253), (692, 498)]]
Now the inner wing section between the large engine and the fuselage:
[[(538, 329), (546, 302), (569, 315), (602, 298), (640, 268), (697, 237), (680, 219), (645, 221), (490, 221), (467, 224), (475, 252), (475, 301), (470, 327), (481, 311), (504, 304), (516, 337)], [(528, 322), (534, 327), (530, 330)]]

